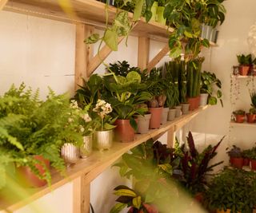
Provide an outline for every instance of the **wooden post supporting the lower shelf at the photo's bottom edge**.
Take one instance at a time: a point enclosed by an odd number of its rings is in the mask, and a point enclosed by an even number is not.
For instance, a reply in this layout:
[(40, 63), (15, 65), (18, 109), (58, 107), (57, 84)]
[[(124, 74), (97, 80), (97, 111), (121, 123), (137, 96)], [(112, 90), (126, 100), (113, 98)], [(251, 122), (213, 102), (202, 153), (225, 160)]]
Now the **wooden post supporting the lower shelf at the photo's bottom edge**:
[(73, 213), (90, 213), (90, 183), (84, 176), (73, 181)]

